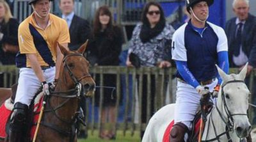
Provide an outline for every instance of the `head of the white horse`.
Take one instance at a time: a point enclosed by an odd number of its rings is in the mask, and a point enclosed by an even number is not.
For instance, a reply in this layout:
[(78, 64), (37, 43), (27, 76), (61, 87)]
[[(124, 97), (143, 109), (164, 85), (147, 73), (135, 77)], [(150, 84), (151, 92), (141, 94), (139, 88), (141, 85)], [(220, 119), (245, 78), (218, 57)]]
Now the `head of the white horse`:
[(235, 130), (239, 138), (245, 138), (252, 129), (247, 116), (250, 91), (244, 83), (247, 64), (239, 74), (230, 75), (225, 74), (218, 66), (216, 67), (223, 79), (217, 106), (221, 108), (228, 127)]

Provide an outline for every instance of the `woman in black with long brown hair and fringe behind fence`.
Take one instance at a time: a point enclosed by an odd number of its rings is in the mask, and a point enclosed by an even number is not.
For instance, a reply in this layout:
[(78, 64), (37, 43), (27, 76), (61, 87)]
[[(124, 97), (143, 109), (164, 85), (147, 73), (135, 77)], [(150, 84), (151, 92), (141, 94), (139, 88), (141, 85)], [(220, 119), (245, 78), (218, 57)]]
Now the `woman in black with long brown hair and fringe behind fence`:
[[(90, 56), (95, 57), (92, 65), (99, 66), (118, 66), (119, 54), (122, 51), (123, 35), (120, 28), (113, 26), (113, 17), (108, 6), (100, 6), (95, 13), (93, 22), (93, 40), (90, 43), (88, 51)], [(116, 75), (104, 74), (104, 86), (116, 88)], [(100, 84), (100, 78), (97, 75), (96, 84)], [(106, 130), (106, 123), (115, 123), (116, 118), (116, 91), (111, 88), (103, 90), (103, 106), (101, 113), (102, 129), (100, 129), (99, 137), (102, 139), (115, 139), (115, 131), (113, 129)], [(121, 97), (122, 98), (122, 97)], [(100, 89), (96, 90), (95, 101), (99, 106)], [(122, 99), (120, 99), (122, 100)]]

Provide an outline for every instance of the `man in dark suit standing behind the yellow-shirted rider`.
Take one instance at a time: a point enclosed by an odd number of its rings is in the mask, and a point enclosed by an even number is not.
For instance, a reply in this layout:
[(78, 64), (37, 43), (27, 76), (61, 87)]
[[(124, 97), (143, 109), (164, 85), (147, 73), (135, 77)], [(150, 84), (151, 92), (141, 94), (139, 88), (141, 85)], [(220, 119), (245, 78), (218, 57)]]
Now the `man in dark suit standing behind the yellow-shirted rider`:
[(74, 0), (60, 0), (59, 6), (62, 12), (62, 18), (67, 21), (69, 28), (70, 43), (68, 47), (71, 51), (77, 50), (90, 38), (90, 24), (87, 20), (75, 15)]

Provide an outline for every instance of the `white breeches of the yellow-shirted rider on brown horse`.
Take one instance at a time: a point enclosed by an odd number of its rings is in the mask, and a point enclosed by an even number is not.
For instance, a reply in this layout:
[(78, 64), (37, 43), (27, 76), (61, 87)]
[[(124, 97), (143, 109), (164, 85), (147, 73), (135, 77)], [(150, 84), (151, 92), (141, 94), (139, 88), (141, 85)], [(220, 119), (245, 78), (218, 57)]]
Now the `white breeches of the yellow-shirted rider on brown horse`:
[[(43, 74), (47, 83), (52, 83), (55, 77), (55, 67), (43, 70)], [(15, 97), (14, 104), (21, 102), (29, 106), (33, 99), (36, 91), (41, 86), (41, 82), (32, 68), (20, 68), (19, 70), (19, 81), (18, 88)]]

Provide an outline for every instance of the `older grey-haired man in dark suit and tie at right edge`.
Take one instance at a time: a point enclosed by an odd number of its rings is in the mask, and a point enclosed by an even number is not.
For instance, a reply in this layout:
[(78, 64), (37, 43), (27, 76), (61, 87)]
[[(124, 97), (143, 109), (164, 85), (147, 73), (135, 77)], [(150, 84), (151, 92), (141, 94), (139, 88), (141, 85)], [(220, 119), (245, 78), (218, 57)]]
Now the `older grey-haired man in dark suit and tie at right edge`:
[[(256, 19), (249, 13), (248, 0), (234, 0), (233, 11), (236, 17), (227, 21), (225, 31), (228, 38), (228, 56), (230, 67), (241, 70), (248, 62), (245, 82), (249, 85), (249, 76), (256, 67)], [(256, 78), (254, 78), (256, 81)], [(256, 104), (256, 83), (253, 84), (253, 104)], [(253, 124), (256, 124), (256, 109)]]

